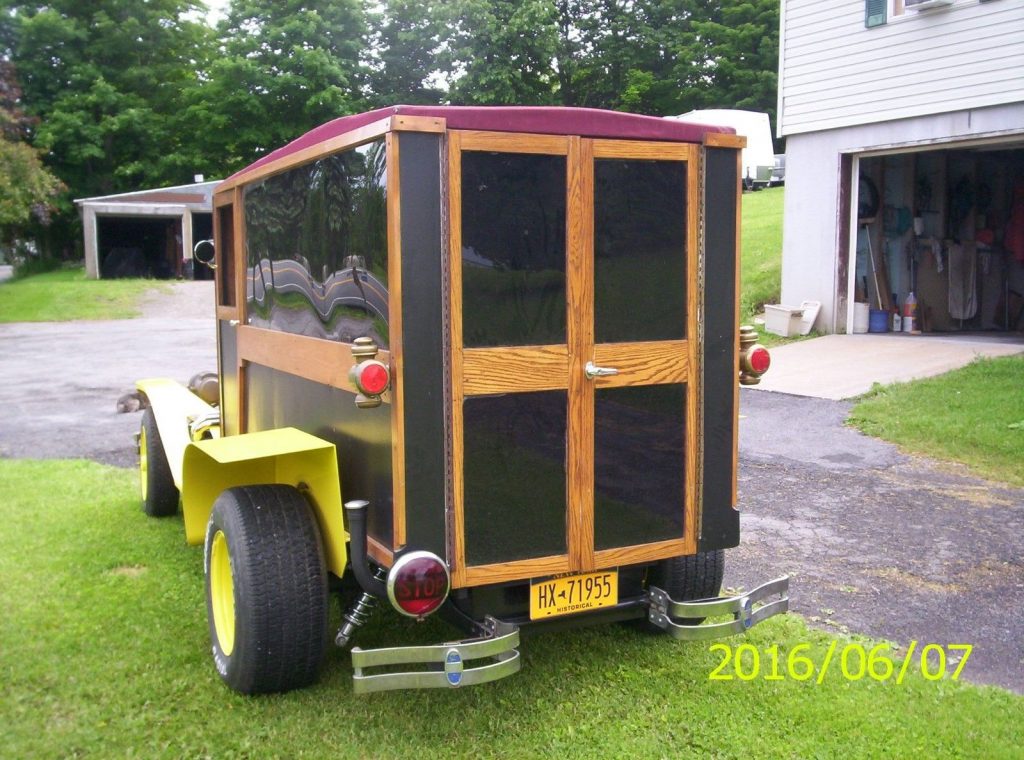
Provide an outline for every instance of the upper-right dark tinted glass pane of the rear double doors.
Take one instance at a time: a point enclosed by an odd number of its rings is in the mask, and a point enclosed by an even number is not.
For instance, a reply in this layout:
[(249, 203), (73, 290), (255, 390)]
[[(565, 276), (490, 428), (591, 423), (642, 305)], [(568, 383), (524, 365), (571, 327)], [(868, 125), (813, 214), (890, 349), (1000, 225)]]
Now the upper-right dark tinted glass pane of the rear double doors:
[(598, 343), (686, 332), (686, 164), (594, 164), (594, 330)]

